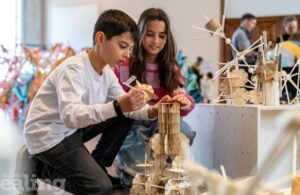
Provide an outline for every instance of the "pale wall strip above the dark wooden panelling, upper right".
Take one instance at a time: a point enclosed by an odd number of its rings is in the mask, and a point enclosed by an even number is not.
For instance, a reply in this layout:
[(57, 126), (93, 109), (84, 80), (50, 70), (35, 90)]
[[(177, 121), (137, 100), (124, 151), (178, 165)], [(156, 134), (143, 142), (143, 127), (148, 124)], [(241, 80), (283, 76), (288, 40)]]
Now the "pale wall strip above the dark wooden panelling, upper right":
[(256, 16), (290, 15), (300, 13), (299, 0), (227, 0), (227, 18), (239, 18), (245, 12)]

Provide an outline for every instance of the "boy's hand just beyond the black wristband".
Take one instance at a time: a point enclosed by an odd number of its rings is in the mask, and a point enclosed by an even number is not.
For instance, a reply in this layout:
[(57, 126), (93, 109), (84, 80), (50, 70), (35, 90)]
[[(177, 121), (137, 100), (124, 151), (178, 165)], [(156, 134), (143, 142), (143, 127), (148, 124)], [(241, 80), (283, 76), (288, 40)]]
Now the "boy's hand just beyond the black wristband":
[(144, 92), (140, 88), (130, 89), (127, 94), (118, 99), (122, 112), (131, 112), (141, 109), (145, 106), (146, 101)]

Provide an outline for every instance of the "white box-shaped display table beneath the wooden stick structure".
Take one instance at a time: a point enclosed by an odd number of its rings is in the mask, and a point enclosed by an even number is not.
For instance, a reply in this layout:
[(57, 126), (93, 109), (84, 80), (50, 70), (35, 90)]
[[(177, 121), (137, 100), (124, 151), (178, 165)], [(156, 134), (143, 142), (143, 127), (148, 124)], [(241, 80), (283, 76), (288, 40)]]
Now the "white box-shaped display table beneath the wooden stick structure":
[[(279, 114), (295, 109), (300, 111), (300, 106), (196, 105), (184, 117), (197, 131), (191, 147), (193, 158), (209, 169), (220, 170), (220, 165), (224, 165), (231, 178), (253, 176), (282, 131), (276, 124)], [(287, 176), (291, 171), (292, 143), (274, 163), (265, 181)]]

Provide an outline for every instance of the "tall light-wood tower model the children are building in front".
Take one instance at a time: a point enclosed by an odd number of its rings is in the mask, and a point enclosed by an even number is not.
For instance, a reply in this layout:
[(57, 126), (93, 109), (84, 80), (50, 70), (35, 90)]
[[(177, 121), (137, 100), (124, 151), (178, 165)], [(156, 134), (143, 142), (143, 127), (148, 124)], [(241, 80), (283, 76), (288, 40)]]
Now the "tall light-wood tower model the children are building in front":
[[(130, 194), (191, 195), (204, 190), (203, 182), (191, 182), (183, 176), (181, 162), (188, 139), (180, 133), (180, 106), (178, 103), (161, 103), (158, 110), (159, 131), (150, 139), (153, 161), (137, 166), (144, 167), (144, 173), (133, 179)], [(172, 164), (167, 163), (167, 158)]]

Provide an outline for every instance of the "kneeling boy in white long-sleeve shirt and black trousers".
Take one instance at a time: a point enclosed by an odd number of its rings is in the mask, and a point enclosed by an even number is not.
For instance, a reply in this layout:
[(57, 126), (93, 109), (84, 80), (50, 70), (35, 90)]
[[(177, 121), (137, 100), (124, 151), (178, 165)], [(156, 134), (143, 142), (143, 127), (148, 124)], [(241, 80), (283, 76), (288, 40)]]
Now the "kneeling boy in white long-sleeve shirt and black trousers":
[[(105, 167), (112, 164), (132, 119), (157, 116), (157, 105), (146, 105), (139, 88), (125, 93), (109, 67), (129, 57), (136, 36), (132, 18), (107, 10), (95, 24), (93, 48), (66, 59), (44, 81), (24, 128), (37, 178), (65, 179), (60, 187), (74, 194), (111, 193)], [(89, 154), (83, 143), (100, 133)], [(19, 160), (26, 160), (25, 154)]]

